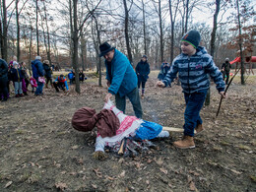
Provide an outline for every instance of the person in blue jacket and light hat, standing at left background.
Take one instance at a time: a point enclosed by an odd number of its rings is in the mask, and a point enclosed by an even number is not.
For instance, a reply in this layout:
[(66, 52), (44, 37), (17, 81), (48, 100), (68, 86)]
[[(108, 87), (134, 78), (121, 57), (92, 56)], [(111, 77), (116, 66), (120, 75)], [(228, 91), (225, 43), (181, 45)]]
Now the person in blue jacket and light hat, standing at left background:
[(42, 95), (42, 89), (43, 89), (43, 83), (38, 81), (39, 77), (43, 77), (44, 71), (41, 63), (41, 57), (36, 56), (35, 60), (32, 61), (32, 77), (36, 80), (37, 82), (37, 88), (34, 93), (34, 96), (40, 96)]

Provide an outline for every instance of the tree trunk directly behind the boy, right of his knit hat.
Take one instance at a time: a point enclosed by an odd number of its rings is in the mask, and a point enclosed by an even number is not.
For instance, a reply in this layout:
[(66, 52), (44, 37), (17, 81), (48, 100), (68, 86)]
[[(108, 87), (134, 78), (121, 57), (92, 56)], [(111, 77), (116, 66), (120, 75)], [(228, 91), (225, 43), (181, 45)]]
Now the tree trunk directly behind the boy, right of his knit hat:
[[(213, 26), (213, 32), (211, 33), (211, 49), (210, 49), (210, 54), (212, 55), (213, 58), (215, 58), (215, 41), (216, 41), (216, 31), (217, 31), (217, 22), (218, 22), (218, 15), (220, 13), (220, 8), (221, 8), (221, 0), (216, 0), (216, 10), (215, 10), (215, 15), (214, 15), (214, 26)], [(209, 88), (205, 100), (205, 105), (208, 106), (210, 105), (211, 101), (211, 87)]]

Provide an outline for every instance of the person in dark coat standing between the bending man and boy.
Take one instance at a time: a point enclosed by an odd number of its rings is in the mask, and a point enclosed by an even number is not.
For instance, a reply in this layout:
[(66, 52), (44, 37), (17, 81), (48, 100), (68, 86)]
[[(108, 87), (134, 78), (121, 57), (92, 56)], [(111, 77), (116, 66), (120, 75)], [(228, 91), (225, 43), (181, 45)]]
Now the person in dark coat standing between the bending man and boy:
[(145, 94), (145, 85), (149, 79), (149, 74), (151, 73), (150, 64), (148, 63), (147, 56), (143, 55), (141, 61), (137, 64), (135, 71), (138, 77), (138, 89), (142, 85), (142, 98)]

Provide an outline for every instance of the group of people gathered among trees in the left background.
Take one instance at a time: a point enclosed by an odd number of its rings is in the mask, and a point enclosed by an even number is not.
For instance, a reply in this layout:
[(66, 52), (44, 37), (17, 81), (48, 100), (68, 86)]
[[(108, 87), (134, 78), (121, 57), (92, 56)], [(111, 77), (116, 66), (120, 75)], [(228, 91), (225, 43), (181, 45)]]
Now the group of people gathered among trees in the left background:
[[(73, 77), (70, 82), (75, 80), (75, 73), (72, 71)], [(83, 71), (79, 73), (80, 81), (84, 82), (85, 74)], [(32, 61), (32, 76), (28, 74), (26, 62), (18, 62), (17, 57), (13, 56), (9, 64), (3, 59), (0, 59), (0, 99), (6, 101), (10, 97), (10, 86), (13, 85), (15, 97), (28, 96), (28, 87), (31, 84), (32, 93), (34, 96), (43, 95), (43, 87), (55, 88), (58, 93), (59, 90), (69, 91), (67, 80), (64, 75), (58, 76), (54, 82), (52, 81), (52, 67), (48, 60), (41, 63), (41, 57), (36, 56)], [(71, 84), (70, 84), (71, 85)]]

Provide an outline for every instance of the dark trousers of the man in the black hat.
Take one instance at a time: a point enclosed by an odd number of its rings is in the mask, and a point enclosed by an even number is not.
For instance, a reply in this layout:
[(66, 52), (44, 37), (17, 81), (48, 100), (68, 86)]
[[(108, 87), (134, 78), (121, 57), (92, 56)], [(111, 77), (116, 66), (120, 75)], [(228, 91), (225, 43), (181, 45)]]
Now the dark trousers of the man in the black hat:
[[(139, 96), (138, 88), (135, 88), (132, 92), (126, 95), (133, 105), (133, 110), (137, 118), (142, 118), (142, 105)], [(115, 95), (116, 107), (125, 113), (126, 96), (121, 97), (119, 94)]]

